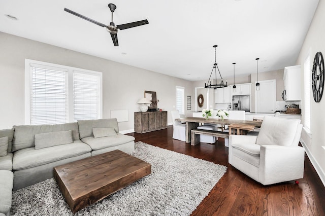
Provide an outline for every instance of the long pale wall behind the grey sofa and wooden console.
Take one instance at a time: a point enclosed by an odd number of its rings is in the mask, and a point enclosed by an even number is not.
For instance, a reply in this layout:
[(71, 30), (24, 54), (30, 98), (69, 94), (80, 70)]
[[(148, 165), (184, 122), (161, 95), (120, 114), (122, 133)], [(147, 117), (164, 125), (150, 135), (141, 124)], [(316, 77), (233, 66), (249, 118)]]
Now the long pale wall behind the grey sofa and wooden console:
[[(175, 86), (185, 87), (186, 96), (192, 95), (192, 83), (154, 73), (149, 70), (74, 52), (60, 47), (31, 41), (0, 32), (0, 129), (23, 125), (24, 122), (24, 62), (25, 58), (68, 65), (103, 73), (103, 118), (110, 118), (110, 110), (129, 110), (129, 121), (119, 123), (122, 131), (134, 129), (134, 112), (144, 91), (155, 91), (158, 108), (175, 109)], [(192, 109), (194, 103), (192, 100)], [(186, 110), (185, 114), (190, 111)], [(168, 113), (168, 122), (172, 123)]]

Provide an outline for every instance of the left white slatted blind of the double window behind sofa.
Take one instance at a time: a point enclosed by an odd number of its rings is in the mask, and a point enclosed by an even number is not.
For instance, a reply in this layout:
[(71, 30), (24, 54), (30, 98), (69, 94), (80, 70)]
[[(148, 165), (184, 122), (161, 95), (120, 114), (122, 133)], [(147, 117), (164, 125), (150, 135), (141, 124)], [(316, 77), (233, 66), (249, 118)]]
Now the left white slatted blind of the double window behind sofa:
[(68, 70), (31, 64), (30, 124), (68, 122)]

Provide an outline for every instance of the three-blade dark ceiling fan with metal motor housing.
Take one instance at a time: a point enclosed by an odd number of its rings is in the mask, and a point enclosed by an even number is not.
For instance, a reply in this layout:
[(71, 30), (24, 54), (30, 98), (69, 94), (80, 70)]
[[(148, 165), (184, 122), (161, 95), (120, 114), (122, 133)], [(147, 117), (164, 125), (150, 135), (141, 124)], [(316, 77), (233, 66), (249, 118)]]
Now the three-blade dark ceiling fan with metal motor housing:
[(125, 24), (121, 24), (121, 25), (116, 25), (114, 24), (113, 22), (113, 13), (116, 9), (116, 6), (114, 4), (108, 4), (108, 7), (109, 9), (111, 10), (112, 12), (112, 21), (110, 22), (109, 25), (105, 25), (103, 23), (100, 23), (100, 22), (97, 22), (93, 19), (90, 19), (88, 17), (85, 17), (81, 14), (78, 14), (72, 10), (69, 10), (68, 8), (64, 8), (64, 11), (67, 11), (68, 13), (71, 13), (77, 17), (80, 17), (82, 19), (85, 19), (89, 22), (92, 22), (96, 25), (99, 25), (99, 26), (102, 26), (102, 27), (106, 27), (107, 31), (111, 33), (111, 37), (112, 37), (112, 40), (113, 40), (113, 44), (114, 46), (118, 46), (118, 40), (117, 40), (117, 29), (120, 29), (120, 30), (123, 30), (123, 29), (126, 29), (126, 28), (133, 28), (133, 27), (137, 27), (137, 26), (140, 26), (140, 25), (145, 25), (145, 24), (148, 24), (148, 20), (141, 20), (141, 21), (137, 21), (137, 22), (130, 22), (130, 23), (125, 23)]

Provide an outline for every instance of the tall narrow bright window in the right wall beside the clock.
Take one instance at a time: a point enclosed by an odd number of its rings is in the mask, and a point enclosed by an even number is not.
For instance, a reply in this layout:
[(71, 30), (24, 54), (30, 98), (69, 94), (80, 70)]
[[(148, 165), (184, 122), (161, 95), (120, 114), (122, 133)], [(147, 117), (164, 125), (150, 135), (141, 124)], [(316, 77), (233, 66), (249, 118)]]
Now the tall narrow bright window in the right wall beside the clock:
[(310, 133), (310, 53), (308, 54), (304, 63), (304, 127)]

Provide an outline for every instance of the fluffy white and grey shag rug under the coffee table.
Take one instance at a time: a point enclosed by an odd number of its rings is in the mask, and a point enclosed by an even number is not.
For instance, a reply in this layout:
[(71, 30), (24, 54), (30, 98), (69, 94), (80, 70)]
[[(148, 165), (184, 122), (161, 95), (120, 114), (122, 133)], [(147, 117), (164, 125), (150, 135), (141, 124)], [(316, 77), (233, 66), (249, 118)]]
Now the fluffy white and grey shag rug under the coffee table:
[(151, 164), (151, 174), (75, 214), (54, 178), (13, 192), (12, 215), (189, 215), (226, 167), (144, 142), (133, 156)]

